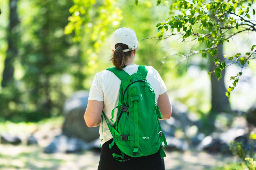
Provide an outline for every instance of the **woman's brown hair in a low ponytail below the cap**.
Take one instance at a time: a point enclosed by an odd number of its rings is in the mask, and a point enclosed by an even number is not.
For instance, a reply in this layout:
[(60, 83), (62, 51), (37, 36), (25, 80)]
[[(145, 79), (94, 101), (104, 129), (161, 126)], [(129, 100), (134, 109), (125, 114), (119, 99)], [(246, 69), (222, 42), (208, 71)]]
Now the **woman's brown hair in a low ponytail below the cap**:
[(128, 45), (123, 43), (117, 43), (115, 45), (115, 51), (112, 53), (112, 57), (109, 61), (112, 61), (114, 66), (122, 70), (126, 65), (128, 57), (131, 56), (132, 51), (124, 52), (123, 49), (128, 49)]

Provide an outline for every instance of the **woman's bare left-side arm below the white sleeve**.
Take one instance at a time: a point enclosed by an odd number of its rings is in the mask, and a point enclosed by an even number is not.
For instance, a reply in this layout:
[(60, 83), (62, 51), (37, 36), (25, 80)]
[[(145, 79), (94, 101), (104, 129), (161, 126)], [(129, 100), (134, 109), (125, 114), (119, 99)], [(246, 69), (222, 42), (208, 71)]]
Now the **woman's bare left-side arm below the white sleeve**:
[(103, 101), (88, 100), (84, 113), (84, 120), (88, 127), (96, 127), (100, 124), (102, 109)]

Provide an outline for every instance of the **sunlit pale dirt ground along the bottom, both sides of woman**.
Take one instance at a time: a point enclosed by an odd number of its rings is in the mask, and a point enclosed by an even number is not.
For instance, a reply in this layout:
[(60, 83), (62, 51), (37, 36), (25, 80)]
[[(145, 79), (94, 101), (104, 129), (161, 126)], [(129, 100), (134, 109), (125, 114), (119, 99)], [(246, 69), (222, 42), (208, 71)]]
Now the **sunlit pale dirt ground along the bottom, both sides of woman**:
[[(42, 147), (25, 144), (0, 145), (0, 169), (94, 170), (97, 169), (100, 159), (99, 151), (84, 151), (80, 154), (45, 154), (42, 150)], [(193, 150), (166, 152), (164, 160), (166, 170), (212, 169), (237, 161), (233, 156)]]

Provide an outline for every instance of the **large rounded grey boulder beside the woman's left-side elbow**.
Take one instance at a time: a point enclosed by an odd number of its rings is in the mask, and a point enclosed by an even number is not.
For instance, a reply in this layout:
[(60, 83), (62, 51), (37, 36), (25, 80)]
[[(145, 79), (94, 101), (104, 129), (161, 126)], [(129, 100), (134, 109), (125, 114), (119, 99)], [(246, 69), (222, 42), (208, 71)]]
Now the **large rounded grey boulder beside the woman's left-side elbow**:
[(99, 126), (87, 127), (84, 122), (84, 112), (88, 103), (88, 91), (75, 92), (64, 104), (65, 122), (62, 130), (68, 137), (76, 137), (85, 142), (99, 138)]

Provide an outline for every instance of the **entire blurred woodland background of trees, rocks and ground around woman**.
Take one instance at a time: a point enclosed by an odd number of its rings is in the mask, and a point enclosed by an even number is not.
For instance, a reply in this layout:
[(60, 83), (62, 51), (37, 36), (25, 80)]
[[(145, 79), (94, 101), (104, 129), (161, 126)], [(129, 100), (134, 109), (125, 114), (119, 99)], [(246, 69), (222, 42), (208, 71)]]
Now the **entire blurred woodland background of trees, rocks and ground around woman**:
[[(173, 55), (201, 46), (178, 35), (154, 38), (171, 3), (1, 0), (0, 169), (97, 169), (99, 129), (87, 128), (82, 116), (94, 75), (113, 67), (110, 40), (121, 27), (136, 32), (135, 63), (157, 69), (172, 102), (171, 119), (161, 121), (169, 145), (166, 169), (238, 168), (243, 161), (228, 144), (249, 144), (249, 133), (256, 132), (256, 62), (228, 99), (225, 91), (239, 66), (229, 66), (217, 81), (207, 74), (214, 70), (212, 58), (179, 62)], [(243, 54), (255, 37), (238, 34), (222, 53)]]

